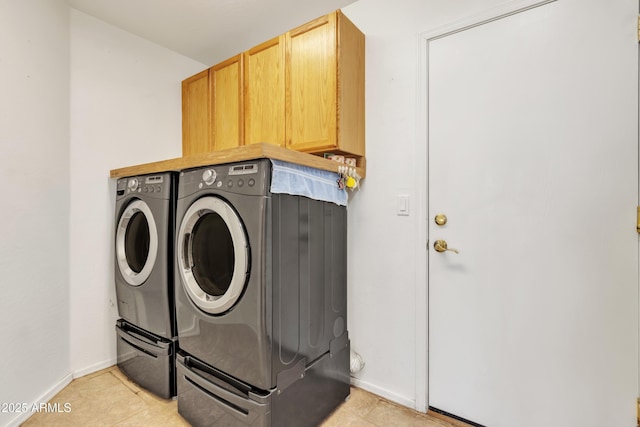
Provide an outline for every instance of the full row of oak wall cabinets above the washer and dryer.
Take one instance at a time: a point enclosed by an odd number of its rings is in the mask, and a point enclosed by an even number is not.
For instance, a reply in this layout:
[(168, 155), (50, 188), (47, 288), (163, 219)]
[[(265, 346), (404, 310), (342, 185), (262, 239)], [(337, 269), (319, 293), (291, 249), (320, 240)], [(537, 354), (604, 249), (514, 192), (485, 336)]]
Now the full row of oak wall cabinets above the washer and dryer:
[(266, 142), (361, 166), (364, 43), (338, 10), (211, 67), (207, 107), (202, 73), (186, 79), (183, 155)]

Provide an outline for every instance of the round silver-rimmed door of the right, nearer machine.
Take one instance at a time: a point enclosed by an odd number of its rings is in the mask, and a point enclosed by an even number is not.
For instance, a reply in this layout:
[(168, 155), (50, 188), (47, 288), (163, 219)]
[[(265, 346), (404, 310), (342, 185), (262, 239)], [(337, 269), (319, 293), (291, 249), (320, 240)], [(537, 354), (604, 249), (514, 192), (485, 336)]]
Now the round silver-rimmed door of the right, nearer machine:
[(189, 207), (178, 233), (178, 262), (189, 298), (220, 314), (238, 301), (249, 268), (247, 237), (233, 208), (217, 197)]

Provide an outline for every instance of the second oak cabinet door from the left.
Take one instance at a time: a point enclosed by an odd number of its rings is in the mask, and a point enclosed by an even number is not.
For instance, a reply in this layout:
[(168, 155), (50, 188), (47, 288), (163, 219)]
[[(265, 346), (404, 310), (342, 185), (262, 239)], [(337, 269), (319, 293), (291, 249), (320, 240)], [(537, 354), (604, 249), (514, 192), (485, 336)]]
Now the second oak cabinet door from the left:
[(211, 79), (211, 126), (214, 150), (243, 143), (242, 55), (209, 69)]

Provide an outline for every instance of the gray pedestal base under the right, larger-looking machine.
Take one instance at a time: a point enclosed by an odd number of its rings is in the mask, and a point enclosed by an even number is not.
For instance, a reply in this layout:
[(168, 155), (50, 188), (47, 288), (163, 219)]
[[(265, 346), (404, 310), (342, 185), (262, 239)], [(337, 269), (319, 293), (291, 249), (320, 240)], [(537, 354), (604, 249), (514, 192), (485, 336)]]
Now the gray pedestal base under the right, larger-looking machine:
[(349, 345), (286, 388), (260, 391), (192, 356), (176, 356), (178, 413), (194, 427), (315, 427), (349, 396)]

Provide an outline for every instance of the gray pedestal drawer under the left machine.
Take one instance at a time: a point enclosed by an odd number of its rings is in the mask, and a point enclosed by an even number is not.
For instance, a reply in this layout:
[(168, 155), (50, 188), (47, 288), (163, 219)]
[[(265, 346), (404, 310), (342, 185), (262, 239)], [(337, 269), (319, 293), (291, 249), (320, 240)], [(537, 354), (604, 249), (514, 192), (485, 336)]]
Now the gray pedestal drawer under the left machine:
[(159, 397), (175, 396), (175, 343), (122, 319), (116, 323), (116, 334), (118, 368), (131, 381)]

